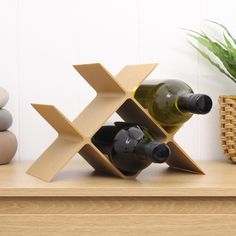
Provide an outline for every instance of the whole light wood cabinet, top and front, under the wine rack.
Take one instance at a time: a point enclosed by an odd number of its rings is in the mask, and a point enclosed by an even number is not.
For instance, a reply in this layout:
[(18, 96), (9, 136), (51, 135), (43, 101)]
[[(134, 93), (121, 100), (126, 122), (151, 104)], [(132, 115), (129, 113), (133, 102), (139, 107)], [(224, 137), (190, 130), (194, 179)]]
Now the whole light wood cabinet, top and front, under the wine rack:
[(137, 179), (73, 160), (46, 183), (31, 161), (0, 166), (0, 235), (236, 235), (236, 167), (200, 161), (206, 175), (152, 164)]

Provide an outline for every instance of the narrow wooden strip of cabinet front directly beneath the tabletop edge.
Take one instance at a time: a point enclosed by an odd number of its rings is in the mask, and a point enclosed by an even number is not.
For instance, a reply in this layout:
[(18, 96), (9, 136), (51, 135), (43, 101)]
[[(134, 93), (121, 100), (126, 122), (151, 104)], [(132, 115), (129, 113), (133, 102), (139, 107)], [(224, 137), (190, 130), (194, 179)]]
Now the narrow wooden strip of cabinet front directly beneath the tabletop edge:
[(0, 214), (236, 214), (235, 198), (0, 198)]

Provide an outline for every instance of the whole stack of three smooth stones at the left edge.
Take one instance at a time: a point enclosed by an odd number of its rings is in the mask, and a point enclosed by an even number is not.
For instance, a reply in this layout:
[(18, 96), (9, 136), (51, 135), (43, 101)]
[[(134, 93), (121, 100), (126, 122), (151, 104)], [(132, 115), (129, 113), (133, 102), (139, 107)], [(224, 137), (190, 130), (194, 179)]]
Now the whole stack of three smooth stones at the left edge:
[(0, 165), (9, 163), (17, 149), (16, 136), (8, 130), (12, 125), (12, 115), (3, 108), (8, 99), (8, 92), (0, 87)]

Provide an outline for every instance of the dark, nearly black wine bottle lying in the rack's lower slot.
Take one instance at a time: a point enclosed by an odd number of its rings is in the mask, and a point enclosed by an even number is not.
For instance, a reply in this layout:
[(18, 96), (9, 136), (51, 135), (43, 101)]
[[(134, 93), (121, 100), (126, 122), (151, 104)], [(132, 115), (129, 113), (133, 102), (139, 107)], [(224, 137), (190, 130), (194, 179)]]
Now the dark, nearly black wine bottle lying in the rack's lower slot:
[(170, 156), (169, 147), (155, 141), (147, 128), (126, 122), (101, 127), (92, 142), (126, 175), (134, 175), (153, 162), (166, 162)]

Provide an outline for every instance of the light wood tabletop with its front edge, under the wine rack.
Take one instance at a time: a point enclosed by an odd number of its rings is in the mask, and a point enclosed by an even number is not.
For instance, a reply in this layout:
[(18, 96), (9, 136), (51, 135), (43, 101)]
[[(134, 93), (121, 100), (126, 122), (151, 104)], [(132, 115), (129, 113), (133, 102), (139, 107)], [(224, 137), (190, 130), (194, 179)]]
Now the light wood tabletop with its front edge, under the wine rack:
[(206, 175), (152, 164), (136, 180), (95, 173), (84, 160), (72, 160), (50, 183), (26, 174), (31, 161), (0, 166), (3, 196), (236, 196), (236, 166), (222, 161), (199, 161)]

